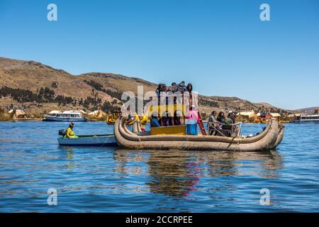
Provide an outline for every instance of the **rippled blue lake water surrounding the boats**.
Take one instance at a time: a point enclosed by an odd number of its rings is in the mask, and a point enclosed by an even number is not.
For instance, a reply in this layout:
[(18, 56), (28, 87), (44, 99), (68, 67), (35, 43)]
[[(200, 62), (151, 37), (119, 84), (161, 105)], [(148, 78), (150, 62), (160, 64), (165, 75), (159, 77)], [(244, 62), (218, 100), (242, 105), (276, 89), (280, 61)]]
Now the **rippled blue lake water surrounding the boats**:
[[(57, 131), (66, 127), (0, 123), (0, 212), (319, 211), (319, 124), (287, 124), (279, 148), (264, 153), (62, 148)], [(245, 124), (242, 133), (262, 127)], [(74, 131), (113, 126), (76, 123)], [(47, 204), (50, 188), (56, 206)]]

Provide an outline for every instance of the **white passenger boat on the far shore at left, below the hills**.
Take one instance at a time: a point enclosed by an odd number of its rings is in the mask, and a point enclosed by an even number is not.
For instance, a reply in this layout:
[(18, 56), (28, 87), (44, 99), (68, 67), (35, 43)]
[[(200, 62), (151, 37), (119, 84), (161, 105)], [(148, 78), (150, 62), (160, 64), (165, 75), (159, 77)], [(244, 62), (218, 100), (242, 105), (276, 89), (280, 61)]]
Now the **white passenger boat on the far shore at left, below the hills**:
[(52, 111), (44, 117), (43, 121), (87, 121), (81, 111)]

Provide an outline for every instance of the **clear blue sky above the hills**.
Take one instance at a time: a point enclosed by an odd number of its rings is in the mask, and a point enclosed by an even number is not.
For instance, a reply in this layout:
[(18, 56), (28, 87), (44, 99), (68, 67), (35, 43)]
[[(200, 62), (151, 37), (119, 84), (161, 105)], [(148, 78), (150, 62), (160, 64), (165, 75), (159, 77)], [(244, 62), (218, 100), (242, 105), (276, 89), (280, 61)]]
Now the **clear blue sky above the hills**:
[[(58, 21), (47, 21), (50, 3)], [(271, 21), (260, 21), (262, 3)], [(319, 106), (319, 1), (0, 0), (0, 56)]]

